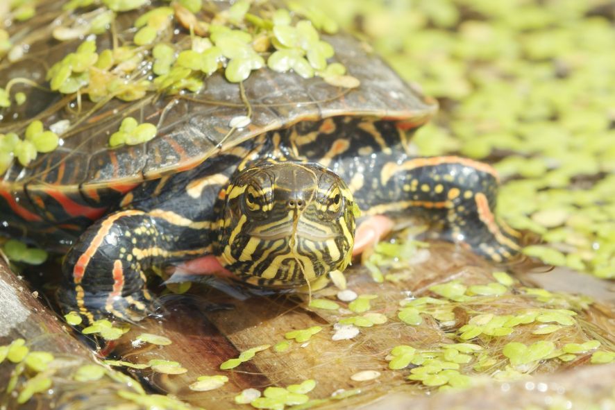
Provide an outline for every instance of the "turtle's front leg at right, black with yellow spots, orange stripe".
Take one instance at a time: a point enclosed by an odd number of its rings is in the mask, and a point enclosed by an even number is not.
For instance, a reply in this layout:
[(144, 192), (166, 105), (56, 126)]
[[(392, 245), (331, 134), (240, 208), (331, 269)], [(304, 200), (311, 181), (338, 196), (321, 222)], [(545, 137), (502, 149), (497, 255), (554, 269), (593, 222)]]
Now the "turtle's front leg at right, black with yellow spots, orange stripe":
[(403, 160), (391, 156), (377, 176), (382, 194), (368, 215), (426, 219), (440, 237), (494, 262), (519, 253), (519, 232), (496, 219), (498, 176), (491, 166), (455, 156)]

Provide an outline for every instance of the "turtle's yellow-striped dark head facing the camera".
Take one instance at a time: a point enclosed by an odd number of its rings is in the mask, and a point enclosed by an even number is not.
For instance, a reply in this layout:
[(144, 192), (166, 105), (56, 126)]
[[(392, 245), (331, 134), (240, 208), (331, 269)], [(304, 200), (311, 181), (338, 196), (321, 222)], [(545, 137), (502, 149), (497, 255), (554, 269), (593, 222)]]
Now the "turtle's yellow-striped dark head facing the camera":
[(355, 205), (344, 181), (319, 164), (264, 162), (235, 174), (221, 209), (219, 255), (262, 286), (298, 286), (343, 271)]

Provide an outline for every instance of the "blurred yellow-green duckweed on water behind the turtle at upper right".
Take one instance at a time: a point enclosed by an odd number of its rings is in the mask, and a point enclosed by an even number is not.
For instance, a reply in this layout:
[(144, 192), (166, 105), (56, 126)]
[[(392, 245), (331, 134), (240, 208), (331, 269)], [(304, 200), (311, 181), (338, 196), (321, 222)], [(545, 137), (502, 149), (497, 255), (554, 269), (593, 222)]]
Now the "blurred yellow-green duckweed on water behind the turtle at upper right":
[(305, 0), (441, 110), (420, 155), (495, 164), (500, 216), (548, 264), (615, 277), (615, 3)]

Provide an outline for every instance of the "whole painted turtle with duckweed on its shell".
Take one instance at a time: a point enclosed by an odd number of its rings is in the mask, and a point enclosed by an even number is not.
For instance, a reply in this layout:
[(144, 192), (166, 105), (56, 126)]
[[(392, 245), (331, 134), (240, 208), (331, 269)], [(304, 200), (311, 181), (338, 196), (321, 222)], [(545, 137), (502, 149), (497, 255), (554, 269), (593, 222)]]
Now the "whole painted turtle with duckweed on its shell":
[[(93, 61), (106, 49), (112, 58), (141, 53), (137, 70), (121, 72), (124, 84), (155, 65), (151, 47), (133, 46), (134, 21), (119, 13), (113, 31), (90, 39)], [(186, 35), (161, 33), (157, 42), (189, 47)], [(49, 78), (51, 64), (83, 41), (28, 38), (28, 53), (4, 63), (1, 78)], [(347, 67), (358, 87), (262, 68), (239, 84), (214, 72), (197, 92), (132, 99), (120, 82), (116, 94), (92, 98), (94, 76), (116, 81), (115, 71), (130, 58), (83, 71), (89, 88), (77, 84), (58, 94), (16, 85), (27, 92), (26, 103), (4, 110), (0, 133), (20, 133), (32, 119), (68, 128), (55, 151), (25, 167), (8, 166), (0, 180), (1, 233), (67, 252), (60, 300), (90, 321), (109, 312), (142, 318), (152, 300), (144, 272), (203, 255), (260, 286), (294, 287), (343, 271), (355, 219), (370, 216), (419, 217), (445, 239), (496, 262), (514, 255), (516, 232), (496, 223), (492, 212), (497, 176), (490, 166), (411, 155), (410, 137), (434, 114), (435, 101), (353, 38), (323, 38), (335, 49), (330, 61)], [(52, 88), (62, 69), (54, 67)], [(128, 116), (155, 124), (156, 136), (110, 148), (110, 135)]]

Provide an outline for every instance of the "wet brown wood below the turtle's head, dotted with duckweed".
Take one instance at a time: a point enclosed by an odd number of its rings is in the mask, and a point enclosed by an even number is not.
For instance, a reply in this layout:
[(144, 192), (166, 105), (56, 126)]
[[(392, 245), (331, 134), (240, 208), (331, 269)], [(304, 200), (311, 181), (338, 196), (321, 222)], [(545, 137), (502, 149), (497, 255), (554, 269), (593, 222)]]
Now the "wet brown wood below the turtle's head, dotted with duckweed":
[[(346, 273), (348, 287), (359, 294), (377, 294), (378, 298), (373, 300), (370, 311), (387, 314), (390, 318), (395, 315), (401, 298), (410, 294), (423, 296), (428, 287), (434, 284), (451, 279), (460, 279), (464, 284), (481, 284), (493, 280), (493, 266), (471, 253), (456, 250), (453, 245), (432, 244), (430, 253), (428, 260), (412, 266), (412, 278), (409, 280), (378, 284), (373, 282), (367, 269), (355, 266)], [(312, 298), (332, 296), (335, 292), (335, 287), (328, 287), (312, 295)], [(387, 368), (384, 357), (391, 346), (430, 343), (437, 345), (446, 340), (445, 332), (450, 332), (467, 321), (467, 317), (460, 313), (455, 319), (455, 325), (443, 330), (430, 318), (426, 318), (419, 326), (391, 320), (367, 330), (362, 329), (362, 334), (355, 339), (333, 341), (332, 334), (335, 330), (332, 325), (339, 320), (339, 313), (337, 310), (310, 309), (308, 302), (309, 296), (301, 293), (237, 300), (221, 291), (198, 287), (192, 289), (189, 295), (163, 297), (162, 318), (147, 320), (138, 327), (133, 327), (115, 352), (119, 357), (136, 364), (147, 364), (151, 359), (180, 362), (187, 369), (182, 375), (161, 375), (151, 369), (129, 371), (138, 375), (155, 391), (172, 393), (185, 402), (209, 410), (232, 406), (233, 397), (244, 388), (257, 388), (262, 391), (267, 386), (288, 386), (301, 383), (305, 379), (314, 379), (317, 382), (316, 388), (309, 394), (310, 398), (326, 400), (318, 408), (358, 408), (373, 402), (373, 405), (368, 406), (371, 409), (392, 409), (397, 400), (398, 407), (403, 409), (411, 404), (414, 407), (417, 398), (424, 397), (425, 391), (420, 385), (408, 383), (405, 378), (407, 373)], [(518, 302), (519, 300), (514, 299), (508, 303)], [(593, 320), (601, 321), (602, 315), (598, 310), (592, 315)], [(253, 359), (233, 370), (220, 369), (224, 361), (238, 357), (245, 350), (258, 345), (276, 345), (285, 340), (286, 332), (312, 326), (321, 326), (323, 330), (312, 336), (310, 341), (293, 341), (291, 348), (285, 352), (276, 352), (269, 348), (258, 352)], [(612, 330), (612, 326), (607, 329)], [(135, 348), (133, 341), (142, 332), (167, 336), (173, 343), (167, 346), (144, 344)], [(590, 369), (587, 372), (602, 374), (601, 372), (612, 371), (607, 370), (607, 367), (605, 370)], [(537, 373), (559, 372), (564, 368), (546, 362)], [(351, 379), (352, 375), (363, 370), (376, 370), (380, 372), (380, 377), (364, 382)], [(573, 371), (562, 377), (570, 380), (568, 384), (571, 386), (581, 388), (580, 386), (587, 384), (586, 387), (590, 388), (591, 382), (582, 379), (584, 374), (579, 373), (580, 376), (576, 377)], [(189, 385), (202, 375), (226, 375), (229, 381), (212, 391), (191, 391)], [(576, 381), (573, 382), (573, 379)], [(605, 393), (609, 385), (612, 385), (612, 380), (599, 382), (596, 385), (596, 393)], [(500, 384), (491, 382), (489, 386), (494, 389), (494, 400), (497, 400), (496, 398), (500, 397)], [(359, 389), (360, 394), (341, 401), (331, 399), (336, 391), (353, 389)], [(460, 393), (462, 395), (457, 399), (459, 407), (456, 408), (482, 408), (464, 406), (462, 398), (471, 397), (473, 391), (471, 389)], [(489, 394), (489, 391), (482, 387), (476, 391), (480, 392), (481, 396)], [(527, 394), (542, 397), (544, 392), (528, 391)], [(432, 399), (426, 399), (425, 407), (422, 408), (446, 408), (430, 407), (430, 400)], [(498, 408), (516, 408), (514, 401), (509, 403), (511, 407), (502, 404)]]

